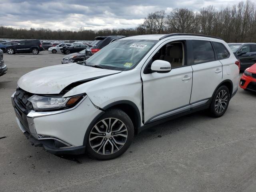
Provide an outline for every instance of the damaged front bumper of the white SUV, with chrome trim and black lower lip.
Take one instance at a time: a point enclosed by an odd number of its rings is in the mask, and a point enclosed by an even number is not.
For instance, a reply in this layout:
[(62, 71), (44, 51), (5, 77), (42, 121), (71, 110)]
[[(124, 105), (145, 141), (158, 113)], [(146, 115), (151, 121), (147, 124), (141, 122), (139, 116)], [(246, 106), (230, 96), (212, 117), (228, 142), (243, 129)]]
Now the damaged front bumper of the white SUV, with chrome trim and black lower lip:
[[(35, 112), (24, 108), (18, 102), (15, 93), (12, 94), (11, 99), (16, 121), (32, 145), (41, 146), (52, 154), (83, 154), (85, 152), (84, 135), (87, 127), (81, 129), (80, 125), (86, 125), (84, 122), (86, 115), (79, 117), (76, 114), (82, 114), (81, 110), (84, 111), (84, 105), (92, 108), (91, 110), (94, 110), (96, 114), (100, 112), (93, 104), (90, 106), (90, 99), (87, 99), (87, 96), (77, 106), (66, 111)], [(73, 118), (72, 115), (74, 115)], [(76, 125), (70, 126), (70, 123), (76, 122)]]

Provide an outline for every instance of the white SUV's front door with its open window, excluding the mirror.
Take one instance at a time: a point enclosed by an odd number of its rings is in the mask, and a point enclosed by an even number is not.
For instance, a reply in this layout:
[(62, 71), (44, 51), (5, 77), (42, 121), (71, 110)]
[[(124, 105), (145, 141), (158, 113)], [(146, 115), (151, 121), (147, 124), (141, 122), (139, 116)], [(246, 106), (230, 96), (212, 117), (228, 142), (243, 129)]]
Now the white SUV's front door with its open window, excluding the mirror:
[[(142, 70), (144, 122), (153, 122), (189, 110), (192, 89), (192, 67), (186, 65), (185, 41), (163, 44), (154, 52), (146, 68), (154, 60), (170, 62), (168, 73)], [(143, 68), (142, 68), (143, 69)]]

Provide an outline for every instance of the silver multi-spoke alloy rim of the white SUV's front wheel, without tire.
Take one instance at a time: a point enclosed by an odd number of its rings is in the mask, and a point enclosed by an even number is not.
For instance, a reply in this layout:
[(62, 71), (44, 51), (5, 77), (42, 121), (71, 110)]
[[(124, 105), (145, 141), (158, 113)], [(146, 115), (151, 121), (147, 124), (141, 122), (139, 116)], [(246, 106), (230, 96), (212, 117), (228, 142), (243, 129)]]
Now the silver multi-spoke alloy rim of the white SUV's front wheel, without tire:
[(98, 154), (118, 152), (126, 143), (128, 130), (117, 118), (106, 118), (94, 125), (89, 134), (90, 147)]

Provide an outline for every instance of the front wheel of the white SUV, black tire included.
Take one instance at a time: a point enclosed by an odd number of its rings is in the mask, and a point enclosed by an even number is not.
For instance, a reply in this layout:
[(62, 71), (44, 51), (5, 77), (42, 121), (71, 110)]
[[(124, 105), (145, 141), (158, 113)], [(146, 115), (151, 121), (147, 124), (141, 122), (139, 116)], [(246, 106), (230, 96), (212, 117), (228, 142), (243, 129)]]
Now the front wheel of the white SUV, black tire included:
[(98, 160), (110, 160), (122, 155), (132, 143), (134, 127), (122, 110), (106, 111), (90, 128), (86, 151)]

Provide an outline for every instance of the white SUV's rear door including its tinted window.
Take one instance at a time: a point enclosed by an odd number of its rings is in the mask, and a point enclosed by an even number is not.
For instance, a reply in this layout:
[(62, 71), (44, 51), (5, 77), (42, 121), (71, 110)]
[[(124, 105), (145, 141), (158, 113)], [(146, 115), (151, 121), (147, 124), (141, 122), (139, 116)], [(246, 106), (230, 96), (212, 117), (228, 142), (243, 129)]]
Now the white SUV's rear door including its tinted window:
[(193, 84), (190, 104), (204, 102), (212, 97), (222, 82), (222, 63), (216, 58), (208, 40), (189, 40), (192, 56)]

